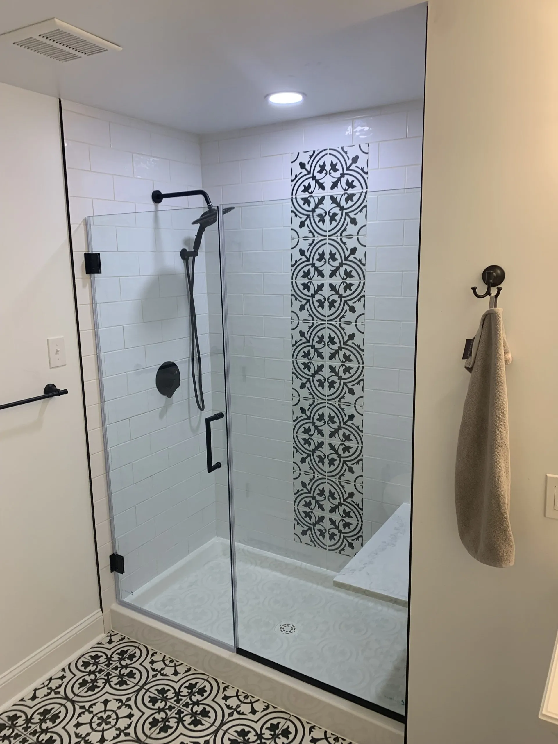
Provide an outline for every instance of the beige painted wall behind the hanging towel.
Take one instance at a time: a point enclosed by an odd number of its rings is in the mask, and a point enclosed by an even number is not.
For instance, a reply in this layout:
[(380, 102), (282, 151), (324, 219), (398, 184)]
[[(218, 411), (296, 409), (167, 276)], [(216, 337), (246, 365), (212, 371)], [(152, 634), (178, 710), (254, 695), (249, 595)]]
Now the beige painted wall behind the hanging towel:
[[(408, 744), (545, 744), (558, 629), (558, 3), (431, 0), (418, 312)], [(461, 353), (501, 263), (516, 565), (469, 557), (455, 524)], [(557, 732), (558, 733), (558, 732)]]

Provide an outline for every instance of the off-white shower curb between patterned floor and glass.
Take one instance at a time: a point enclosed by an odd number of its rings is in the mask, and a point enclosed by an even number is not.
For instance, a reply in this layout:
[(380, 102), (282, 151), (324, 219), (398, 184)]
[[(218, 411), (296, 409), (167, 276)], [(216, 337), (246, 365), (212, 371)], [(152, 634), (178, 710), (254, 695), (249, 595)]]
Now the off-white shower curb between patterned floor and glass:
[(403, 744), (404, 725), (380, 713), (118, 603), (112, 605), (110, 616), (113, 630), (179, 661), (185, 661), (327, 731), (334, 731), (354, 744)]

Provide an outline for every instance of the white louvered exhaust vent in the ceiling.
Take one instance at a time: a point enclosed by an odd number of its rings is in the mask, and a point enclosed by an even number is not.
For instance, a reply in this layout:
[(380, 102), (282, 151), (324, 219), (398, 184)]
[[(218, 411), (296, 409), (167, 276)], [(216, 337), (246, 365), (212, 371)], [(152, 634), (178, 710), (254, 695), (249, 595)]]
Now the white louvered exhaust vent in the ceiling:
[(57, 18), (2, 33), (0, 43), (35, 51), (57, 62), (80, 60), (103, 51), (122, 51), (122, 47)]

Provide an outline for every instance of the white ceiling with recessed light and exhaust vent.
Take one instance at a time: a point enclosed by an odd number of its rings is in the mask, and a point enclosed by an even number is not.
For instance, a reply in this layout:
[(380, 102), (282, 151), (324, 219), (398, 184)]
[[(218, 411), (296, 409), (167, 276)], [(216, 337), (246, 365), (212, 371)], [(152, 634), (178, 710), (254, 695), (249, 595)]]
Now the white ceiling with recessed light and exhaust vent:
[[(409, 0), (1, 4), (0, 33), (56, 17), (124, 48), (61, 63), (0, 44), (2, 82), (190, 132), (423, 95), (426, 4)], [(264, 96), (278, 90), (307, 100), (269, 106)]]

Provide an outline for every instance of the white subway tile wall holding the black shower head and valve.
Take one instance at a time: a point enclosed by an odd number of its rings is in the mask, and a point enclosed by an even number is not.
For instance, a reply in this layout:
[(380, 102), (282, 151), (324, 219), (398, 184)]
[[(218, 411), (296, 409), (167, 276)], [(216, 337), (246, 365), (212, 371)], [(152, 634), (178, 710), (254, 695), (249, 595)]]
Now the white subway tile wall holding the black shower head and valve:
[[(215, 496), (208, 484), (202, 484), (205, 454), (200, 449), (205, 449), (205, 443), (200, 444), (199, 432), (185, 430), (189, 414), (182, 411), (179, 415), (179, 408), (185, 405), (179, 400), (184, 388), (179, 388), (173, 404), (164, 408), (162, 419), (160, 400), (153, 400), (147, 393), (147, 388), (153, 388), (155, 374), (150, 365), (159, 356), (186, 356), (185, 285), (182, 266), (176, 263), (176, 240), (182, 240), (185, 231), (176, 229), (172, 222), (164, 229), (161, 222), (153, 224), (150, 215), (142, 219), (141, 213), (153, 209), (154, 188), (175, 191), (202, 186), (200, 147), (199, 138), (186, 132), (69, 101), (62, 107), (94, 519), (108, 629), (115, 582), (109, 571), (112, 540), (92, 293), (83, 264), (83, 252), (88, 250), (84, 219), (90, 215), (137, 213), (109, 218), (105, 226), (96, 226), (93, 248), (103, 251), (103, 274), (97, 277), (96, 289), (115, 530), (122, 536), (119, 547), (126, 552), (124, 589), (135, 589), (184, 557), (189, 540), (205, 542), (215, 534)], [(173, 206), (201, 205), (199, 197), (173, 200)], [(161, 217), (169, 219), (169, 215), (166, 212)], [(202, 261), (196, 269), (200, 343), (207, 354), (208, 310)], [(210, 388), (207, 359), (205, 368), (205, 387)], [(166, 426), (171, 411), (173, 423)], [(187, 483), (183, 482), (185, 473), (190, 478)], [(184, 493), (196, 496), (185, 499)]]

